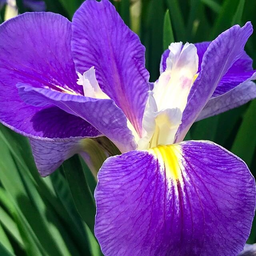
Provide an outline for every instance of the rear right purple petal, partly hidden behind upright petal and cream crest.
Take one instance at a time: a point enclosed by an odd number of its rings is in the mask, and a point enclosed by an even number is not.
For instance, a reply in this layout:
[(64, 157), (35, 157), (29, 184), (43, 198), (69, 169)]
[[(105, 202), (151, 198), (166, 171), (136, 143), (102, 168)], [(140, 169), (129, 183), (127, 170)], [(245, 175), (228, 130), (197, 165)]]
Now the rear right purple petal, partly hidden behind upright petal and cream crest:
[[(195, 44), (199, 58), (198, 73), (201, 71), (203, 56), (210, 42)], [(166, 50), (161, 59), (160, 72), (164, 72), (167, 66), (167, 58), (170, 50)], [(228, 69), (220, 80), (209, 102), (203, 108), (196, 121), (220, 114), (224, 111), (241, 106), (256, 98), (255, 85), (250, 82), (255, 79), (255, 71), (252, 68), (252, 59), (243, 52), (242, 55)], [(221, 97), (220, 97), (221, 96)]]

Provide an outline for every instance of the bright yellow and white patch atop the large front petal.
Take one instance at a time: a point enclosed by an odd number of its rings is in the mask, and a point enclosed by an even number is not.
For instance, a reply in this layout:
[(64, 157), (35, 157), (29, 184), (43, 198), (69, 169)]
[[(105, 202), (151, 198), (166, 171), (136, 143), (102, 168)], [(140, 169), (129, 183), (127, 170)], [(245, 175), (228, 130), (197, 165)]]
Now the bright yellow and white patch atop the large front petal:
[(150, 154), (153, 154), (158, 159), (158, 162), (166, 172), (166, 177), (172, 179), (174, 182), (182, 180), (181, 172), (181, 147), (179, 145), (159, 145), (148, 149)]

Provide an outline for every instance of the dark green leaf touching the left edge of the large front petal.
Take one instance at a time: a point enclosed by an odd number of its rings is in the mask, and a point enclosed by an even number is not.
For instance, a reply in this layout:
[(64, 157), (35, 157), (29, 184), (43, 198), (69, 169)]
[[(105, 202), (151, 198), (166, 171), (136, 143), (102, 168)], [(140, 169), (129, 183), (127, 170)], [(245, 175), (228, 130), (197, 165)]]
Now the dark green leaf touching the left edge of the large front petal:
[(96, 206), (78, 155), (62, 164), (76, 208), (94, 234)]

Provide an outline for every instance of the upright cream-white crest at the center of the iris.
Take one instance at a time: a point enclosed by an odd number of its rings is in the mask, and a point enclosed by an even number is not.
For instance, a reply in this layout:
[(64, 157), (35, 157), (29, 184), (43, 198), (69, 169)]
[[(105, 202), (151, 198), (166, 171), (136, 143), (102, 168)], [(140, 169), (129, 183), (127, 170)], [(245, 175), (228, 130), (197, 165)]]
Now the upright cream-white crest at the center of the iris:
[(139, 149), (172, 144), (182, 120), (188, 95), (198, 74), (198, 55), (193, 44), (182, 42), (169, 46), (166, 70), (162, 72), (150, 92), (142, 126), (143, 137)]

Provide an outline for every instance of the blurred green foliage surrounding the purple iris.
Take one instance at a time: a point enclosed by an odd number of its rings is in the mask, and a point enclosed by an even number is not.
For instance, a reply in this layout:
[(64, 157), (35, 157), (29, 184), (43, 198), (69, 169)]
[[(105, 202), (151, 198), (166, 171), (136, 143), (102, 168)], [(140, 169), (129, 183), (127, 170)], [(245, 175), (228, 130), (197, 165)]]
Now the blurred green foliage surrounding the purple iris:
[[(47, 11), (72, 20), (82, 0), (45, 0)], [(213, 40), (234, 24), (252, 21), (251, 0), (111, 1), (146, 47), (150, 80), (159, 76), (163, 50), (171, 42)], [(17, 0), (18, 12), (29, 11)], [(4, 20), (6, 6), (0, 11)], [(246, 52), (256, 67), (256, 33)], [(240, 156), (256, 176), (256, 100), (195, 123), (186, 139), (212, 140)], [(36, 170), (28, 140), (0, 125), (0, 255), (100, 256), (93, 234), (96, 186), (79, 156), (47, 178)], [(248, 243), (256, 242), (256, 222)]]

